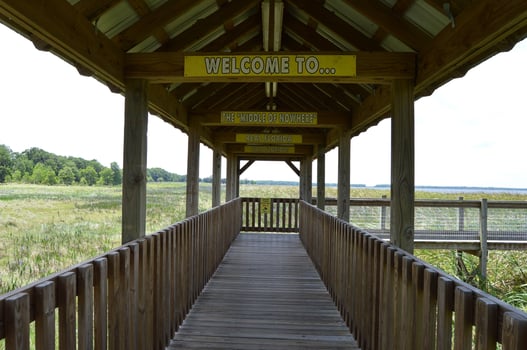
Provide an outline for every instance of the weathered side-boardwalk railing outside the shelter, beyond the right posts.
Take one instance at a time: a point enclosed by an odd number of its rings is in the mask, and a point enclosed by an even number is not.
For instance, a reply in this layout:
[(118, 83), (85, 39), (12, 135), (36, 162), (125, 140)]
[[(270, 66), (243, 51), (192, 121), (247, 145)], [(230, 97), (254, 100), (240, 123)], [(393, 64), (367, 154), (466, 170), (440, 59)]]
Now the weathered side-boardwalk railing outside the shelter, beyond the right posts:
[[(327, 198), (325, 205), (332, 213), (337, 201)], [(354, 209), (350, 218), (353, 224), (383, 239), (390, 238), (390, 199), (353, 198), (350, 207)], [(527, 250), (526, 218), (527, 201), (417, 199), (415, 247)]]

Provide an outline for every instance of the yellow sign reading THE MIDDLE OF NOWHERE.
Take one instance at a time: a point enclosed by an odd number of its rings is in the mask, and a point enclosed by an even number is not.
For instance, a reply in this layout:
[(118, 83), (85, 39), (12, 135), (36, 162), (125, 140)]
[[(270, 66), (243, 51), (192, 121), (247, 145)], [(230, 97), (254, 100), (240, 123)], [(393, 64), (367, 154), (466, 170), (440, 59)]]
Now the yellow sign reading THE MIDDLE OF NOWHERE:
[(317, 125), (317, 112), (221, 112), (221, 124), (225, 125)]

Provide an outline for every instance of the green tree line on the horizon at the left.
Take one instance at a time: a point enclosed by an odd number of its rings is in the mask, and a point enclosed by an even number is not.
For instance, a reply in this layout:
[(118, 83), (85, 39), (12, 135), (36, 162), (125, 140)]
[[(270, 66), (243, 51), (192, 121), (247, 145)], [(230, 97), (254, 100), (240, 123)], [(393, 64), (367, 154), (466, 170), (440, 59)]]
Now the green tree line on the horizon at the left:
[[(161, 168), (147, 169), (147, 181), (186, 181), (185, 175)], [(122, 170), (112, 162), (105, 167), (97, 160), (59, 156), (40, 148), (13, 152), (0, 145), (0, 183), (18, 182), (43, 185), (121, 185)]]

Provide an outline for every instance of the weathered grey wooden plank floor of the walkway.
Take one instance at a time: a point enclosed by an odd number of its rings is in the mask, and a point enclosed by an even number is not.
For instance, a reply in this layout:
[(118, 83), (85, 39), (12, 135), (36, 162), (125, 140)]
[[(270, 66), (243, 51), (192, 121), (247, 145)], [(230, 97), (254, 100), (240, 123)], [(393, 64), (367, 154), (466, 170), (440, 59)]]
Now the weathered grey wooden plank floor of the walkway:
[(296, 234), (240, 234), (169, 349), (358, 349)]

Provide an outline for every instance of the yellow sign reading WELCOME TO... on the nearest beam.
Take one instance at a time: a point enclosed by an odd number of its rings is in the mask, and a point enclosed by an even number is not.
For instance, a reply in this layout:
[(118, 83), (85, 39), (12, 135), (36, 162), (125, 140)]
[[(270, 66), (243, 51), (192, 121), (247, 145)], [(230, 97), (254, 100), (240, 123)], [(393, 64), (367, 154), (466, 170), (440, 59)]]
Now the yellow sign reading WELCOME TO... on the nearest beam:
[(185, 77), (355, 77), (355, 55), (185, 56)]

